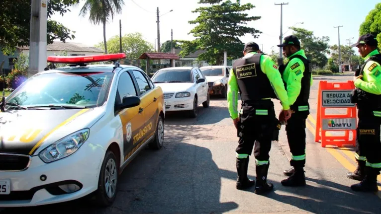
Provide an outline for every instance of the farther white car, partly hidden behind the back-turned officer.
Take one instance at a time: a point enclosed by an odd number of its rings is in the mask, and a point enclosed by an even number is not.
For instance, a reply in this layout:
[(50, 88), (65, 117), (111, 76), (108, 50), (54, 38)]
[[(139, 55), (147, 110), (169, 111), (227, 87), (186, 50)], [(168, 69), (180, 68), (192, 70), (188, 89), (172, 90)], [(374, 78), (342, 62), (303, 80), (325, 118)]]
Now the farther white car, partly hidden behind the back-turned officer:
[(209, 93), (219, 94), (223, 98), (227, 97), (229, 80), (229, 67), (227, 66), (204, 66), (200, 70), (205, 75), (208, 82)]

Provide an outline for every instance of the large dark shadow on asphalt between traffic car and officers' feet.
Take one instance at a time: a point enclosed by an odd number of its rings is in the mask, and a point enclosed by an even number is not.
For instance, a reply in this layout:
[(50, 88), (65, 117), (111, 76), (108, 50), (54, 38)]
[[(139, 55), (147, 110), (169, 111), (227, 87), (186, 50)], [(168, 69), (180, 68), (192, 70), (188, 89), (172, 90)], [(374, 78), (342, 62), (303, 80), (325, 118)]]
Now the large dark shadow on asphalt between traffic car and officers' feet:
[[(231, 176), (235, 173), (230, 172)], [(221, 175), (209, 149), (172, 143), (165, 149), (143, 150), (119, 178), (119, 192), (110, 208), (83, 200), (34, 208), (6, 209), (0, 214), (135, 214), (224, 213), (238, 208), (220, 203)]]

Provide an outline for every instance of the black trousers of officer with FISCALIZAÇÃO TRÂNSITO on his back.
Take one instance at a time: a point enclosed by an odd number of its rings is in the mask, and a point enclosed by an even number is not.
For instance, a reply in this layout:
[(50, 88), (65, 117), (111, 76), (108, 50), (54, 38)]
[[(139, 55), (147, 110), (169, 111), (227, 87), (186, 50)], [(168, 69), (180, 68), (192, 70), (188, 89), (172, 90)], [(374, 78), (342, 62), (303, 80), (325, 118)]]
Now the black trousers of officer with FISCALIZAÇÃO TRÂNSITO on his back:
[(254, 146), (256, 165), (266, 165), (270, 159), (271, 142), (276, 128), (273, 101), (243, 102), (240, 114), (238, 158), (251, 155)]

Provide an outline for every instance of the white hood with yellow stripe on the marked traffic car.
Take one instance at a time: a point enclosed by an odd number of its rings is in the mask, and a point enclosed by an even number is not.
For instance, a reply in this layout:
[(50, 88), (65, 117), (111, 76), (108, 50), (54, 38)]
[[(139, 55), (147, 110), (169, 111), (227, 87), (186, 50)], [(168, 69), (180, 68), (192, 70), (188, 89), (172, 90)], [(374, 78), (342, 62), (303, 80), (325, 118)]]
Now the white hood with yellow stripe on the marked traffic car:
[(1, 112), (0, 152), (36, 155), (69, 134), (90, 128), (102, 115), (102, 107)]

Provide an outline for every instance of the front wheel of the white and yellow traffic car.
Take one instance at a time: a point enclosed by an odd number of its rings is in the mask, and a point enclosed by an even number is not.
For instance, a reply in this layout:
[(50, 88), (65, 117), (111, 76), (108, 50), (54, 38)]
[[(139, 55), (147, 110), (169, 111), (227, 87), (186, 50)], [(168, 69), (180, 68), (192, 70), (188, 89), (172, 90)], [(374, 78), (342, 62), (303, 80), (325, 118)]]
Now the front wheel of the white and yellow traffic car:
[(108, 150), (100, 169), (98, 190), (95, 195), (95, 201), (98, 206), (108, 207), (115, 200), (119, 174), (117, 163), (115, 154), (111, 150)]

